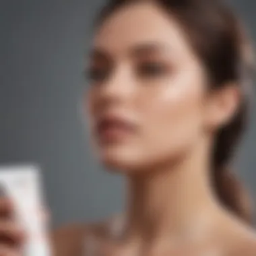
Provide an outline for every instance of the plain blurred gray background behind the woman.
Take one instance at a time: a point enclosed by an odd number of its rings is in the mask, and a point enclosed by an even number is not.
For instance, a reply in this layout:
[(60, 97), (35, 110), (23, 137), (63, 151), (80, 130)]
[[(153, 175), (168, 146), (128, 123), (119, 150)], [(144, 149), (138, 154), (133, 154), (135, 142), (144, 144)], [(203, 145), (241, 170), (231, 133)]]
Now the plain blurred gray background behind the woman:
[[(122, 207), (123, 181), (94, 160), (79, 116), (84, 53), (102, 3), (0, 1), (0, 164), (40, 164), (55, 226)], [(255, 39), (256, 2), (232, 3)], [(236, 168), (256, 198), (255, 139), (253, 117)]]

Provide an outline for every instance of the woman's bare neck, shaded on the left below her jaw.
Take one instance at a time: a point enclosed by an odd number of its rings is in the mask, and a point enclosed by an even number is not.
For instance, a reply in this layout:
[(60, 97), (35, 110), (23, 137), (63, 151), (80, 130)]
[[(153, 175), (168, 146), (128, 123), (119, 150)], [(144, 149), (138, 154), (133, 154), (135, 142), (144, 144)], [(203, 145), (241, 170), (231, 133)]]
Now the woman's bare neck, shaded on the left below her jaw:
[[(193, 151), (195, 152), (195, 151)], [(199, 153), (199, 154), (198, 154)], [(127, 232), (143, 241), (191, 234), (211, 221), (217, 203), (211, 189), (205, 151), (178, 164), (127, 179)]]

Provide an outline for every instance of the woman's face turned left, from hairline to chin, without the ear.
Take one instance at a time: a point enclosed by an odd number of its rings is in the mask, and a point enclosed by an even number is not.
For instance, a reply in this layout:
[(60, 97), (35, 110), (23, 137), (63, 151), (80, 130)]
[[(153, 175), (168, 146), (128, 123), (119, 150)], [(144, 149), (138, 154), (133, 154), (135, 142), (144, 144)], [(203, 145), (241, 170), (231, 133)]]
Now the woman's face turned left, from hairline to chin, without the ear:
[(100, 160), (135, 172), (204, 135), (205, 71), (179, 23), (150, 3), (116, 11), (94, 38), (86, 108)]

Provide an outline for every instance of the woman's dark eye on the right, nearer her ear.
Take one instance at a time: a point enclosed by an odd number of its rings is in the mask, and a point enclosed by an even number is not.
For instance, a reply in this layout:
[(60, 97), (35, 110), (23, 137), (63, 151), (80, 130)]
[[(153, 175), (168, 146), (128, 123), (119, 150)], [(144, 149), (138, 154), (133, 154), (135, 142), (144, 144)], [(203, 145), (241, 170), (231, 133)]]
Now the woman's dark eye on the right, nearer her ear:
[(166, 65), (158, 62), (142, 63), (138, 67), (139, 75), (144, 77), (158, 77), (167, 73)]

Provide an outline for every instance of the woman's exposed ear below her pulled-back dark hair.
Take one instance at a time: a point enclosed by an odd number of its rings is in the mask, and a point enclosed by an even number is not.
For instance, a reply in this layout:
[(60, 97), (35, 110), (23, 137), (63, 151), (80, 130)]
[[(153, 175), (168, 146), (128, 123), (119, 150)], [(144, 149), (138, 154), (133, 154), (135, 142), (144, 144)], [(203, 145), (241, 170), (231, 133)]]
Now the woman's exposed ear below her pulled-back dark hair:
[(241, 102), (241, 92), (236, 84), (227, 84), (210, 92), (205, 102), (206, 125), (211, 130), (228, 124)]

